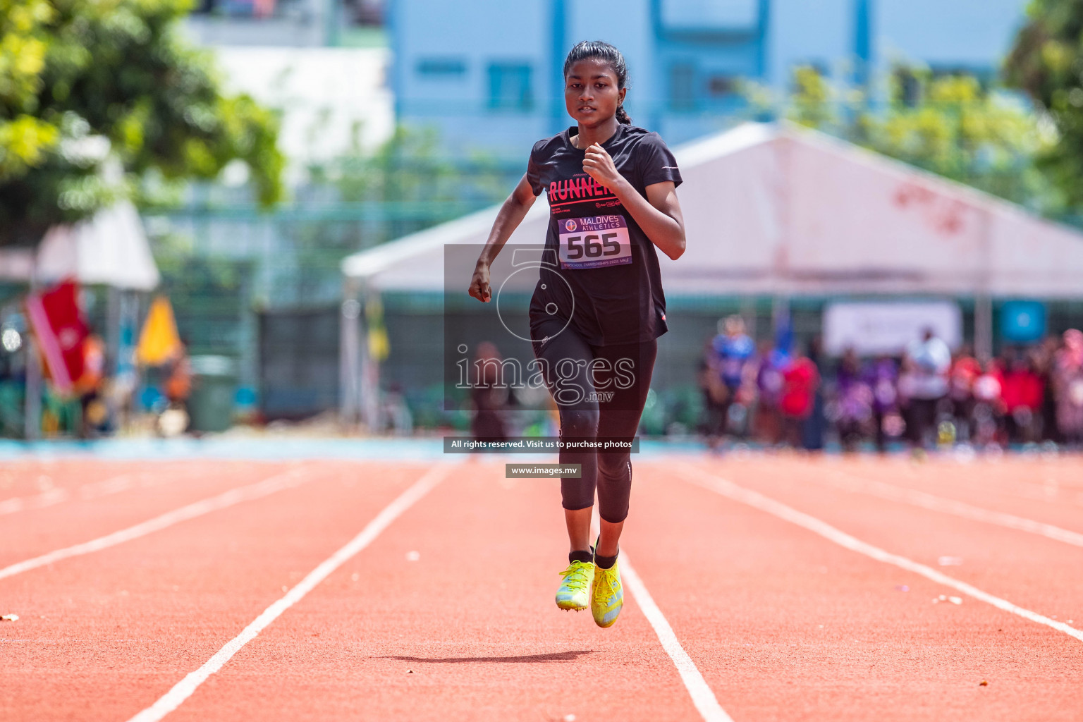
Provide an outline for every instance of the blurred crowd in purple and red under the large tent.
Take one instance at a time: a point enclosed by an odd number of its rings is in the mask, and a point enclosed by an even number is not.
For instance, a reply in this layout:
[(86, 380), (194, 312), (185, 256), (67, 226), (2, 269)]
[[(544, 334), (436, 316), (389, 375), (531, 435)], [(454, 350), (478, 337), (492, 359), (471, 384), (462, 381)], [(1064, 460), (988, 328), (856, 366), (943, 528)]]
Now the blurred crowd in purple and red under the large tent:
[(1005, 346), (981, 360), (954, 354), (926, 330), (897, 356), (826, 358), (787, 331), (758, 345), (740, 316), (719, 323), (705, 347), (702, 432), (712, 448), (735, 443), (844, 450), (904, 443), (1005, 448), (1083, 444), (1083, 332)]

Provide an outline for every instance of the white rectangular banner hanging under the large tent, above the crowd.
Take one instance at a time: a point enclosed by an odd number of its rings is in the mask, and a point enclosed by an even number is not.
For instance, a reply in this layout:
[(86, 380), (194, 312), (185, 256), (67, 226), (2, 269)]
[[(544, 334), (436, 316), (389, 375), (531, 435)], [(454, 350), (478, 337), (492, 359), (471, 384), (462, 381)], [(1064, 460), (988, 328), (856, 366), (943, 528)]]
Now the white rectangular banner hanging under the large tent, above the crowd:
[(931, 328), (953, 351), (963, 343), (963, 314), (951, 301), (832, 303), (823, 312), (823, 345), (832, 356), (901, 354)]

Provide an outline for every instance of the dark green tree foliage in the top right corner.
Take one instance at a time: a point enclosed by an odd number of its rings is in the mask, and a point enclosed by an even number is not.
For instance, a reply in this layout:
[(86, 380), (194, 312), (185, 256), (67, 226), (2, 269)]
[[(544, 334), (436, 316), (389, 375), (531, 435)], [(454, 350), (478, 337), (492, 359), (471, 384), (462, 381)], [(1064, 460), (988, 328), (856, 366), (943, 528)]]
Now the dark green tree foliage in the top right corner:
[(1040, 165), (1067, 201), (1083, 206), (1083, 0), (1031, 0), (1004, 71), (1057, 129)]

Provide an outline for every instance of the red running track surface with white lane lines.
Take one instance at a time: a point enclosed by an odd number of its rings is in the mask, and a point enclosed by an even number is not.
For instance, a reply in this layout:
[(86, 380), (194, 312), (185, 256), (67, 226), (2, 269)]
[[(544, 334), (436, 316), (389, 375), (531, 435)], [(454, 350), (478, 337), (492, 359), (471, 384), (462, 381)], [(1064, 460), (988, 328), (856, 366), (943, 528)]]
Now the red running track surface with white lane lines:
[[(637, 463), (622, 549), (736, 722), (1083, 719), (1083, 642), (971, 598), (934, 604), (958, 592), (690, 484), (681, 463)], [(1078, 458), (688, 463), (1083, 628), (1083, 548), (853, 490), (871, 480), (1083, 533)], [(304, 483), (0, 579), (0, 614), (19, 615), (0, 622), (0, 719), (128, 720), (428, 470), (5, 463), (0, 504), (49, 503), (0, 515), (0, 568), (288, 470)], [(456, 465), (167, 719), (701, 719), (627, 587), (609, 630), (556, 608), (565, 543), (554, 482)]]

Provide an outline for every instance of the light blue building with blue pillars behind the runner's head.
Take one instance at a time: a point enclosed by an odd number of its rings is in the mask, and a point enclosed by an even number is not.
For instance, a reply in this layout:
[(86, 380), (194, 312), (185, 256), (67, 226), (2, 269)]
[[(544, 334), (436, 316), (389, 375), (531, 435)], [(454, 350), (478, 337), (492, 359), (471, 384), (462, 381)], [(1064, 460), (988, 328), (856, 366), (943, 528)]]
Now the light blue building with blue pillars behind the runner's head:
[[(1023, 0), (395, 0), (392, 89), (401, 121), (451, 147), (523, 156), (566, 124), (562, 64), (584, 39), (628, 60), (637, 124), (680, 143), (744, 105), (741, 79), (784, 90), (796, 65), (857, 82), (900, 62), (992, 76)], [(875, 90), (874, 90), (875, 92)]]

